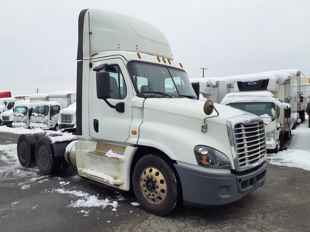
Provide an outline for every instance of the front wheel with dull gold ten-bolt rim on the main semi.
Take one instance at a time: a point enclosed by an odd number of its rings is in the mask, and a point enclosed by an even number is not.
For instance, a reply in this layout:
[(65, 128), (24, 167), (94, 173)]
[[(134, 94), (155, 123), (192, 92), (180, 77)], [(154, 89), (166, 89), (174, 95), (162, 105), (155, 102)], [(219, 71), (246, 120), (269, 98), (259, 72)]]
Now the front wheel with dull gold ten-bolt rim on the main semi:
[(161, 157), (146, 155), (139, 159), (132, 178), (135, 195), (146, 211), (163, 216), (175, 208), (180, 194), (178, 181)]

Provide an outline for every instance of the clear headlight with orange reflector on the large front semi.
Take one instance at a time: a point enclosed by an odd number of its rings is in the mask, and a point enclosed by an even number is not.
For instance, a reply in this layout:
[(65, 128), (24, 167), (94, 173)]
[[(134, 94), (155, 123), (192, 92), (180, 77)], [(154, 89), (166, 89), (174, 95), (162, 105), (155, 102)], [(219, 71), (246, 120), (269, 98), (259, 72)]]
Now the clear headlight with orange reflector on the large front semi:
[(210, 168), (232, 168), (228, 157), (213, 148), (198, 145), (194, 148), (194, 153), (199, 166)]

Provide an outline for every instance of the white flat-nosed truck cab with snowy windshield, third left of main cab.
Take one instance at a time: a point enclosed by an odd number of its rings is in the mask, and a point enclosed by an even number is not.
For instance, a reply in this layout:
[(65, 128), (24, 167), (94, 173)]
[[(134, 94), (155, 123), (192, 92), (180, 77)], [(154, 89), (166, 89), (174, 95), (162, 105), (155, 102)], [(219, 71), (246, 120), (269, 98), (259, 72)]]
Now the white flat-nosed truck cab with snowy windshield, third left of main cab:
[(12, 127), (30, 128), (33, 104), (34, 103), (31, 102), (24, 102), (24, 103), (19, 103), (19, 101), (15, 102), (13, 107)]

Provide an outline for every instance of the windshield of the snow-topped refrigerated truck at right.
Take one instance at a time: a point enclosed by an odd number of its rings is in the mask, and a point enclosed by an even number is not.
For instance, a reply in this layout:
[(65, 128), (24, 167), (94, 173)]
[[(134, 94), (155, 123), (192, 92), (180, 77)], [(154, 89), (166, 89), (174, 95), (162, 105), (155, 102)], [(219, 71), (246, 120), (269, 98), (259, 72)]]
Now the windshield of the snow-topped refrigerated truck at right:
[(272, 121), (275, 120), (274, 116), (272, 115), (272, 108), (275, 110), (276, 106), (273, 102), (236, 102), (229, 103), (227, 105), (237, 108), (239, 110), (244, 110), (251, 114), (256, 114), (261, 117), (270, 117), (272, 118)]

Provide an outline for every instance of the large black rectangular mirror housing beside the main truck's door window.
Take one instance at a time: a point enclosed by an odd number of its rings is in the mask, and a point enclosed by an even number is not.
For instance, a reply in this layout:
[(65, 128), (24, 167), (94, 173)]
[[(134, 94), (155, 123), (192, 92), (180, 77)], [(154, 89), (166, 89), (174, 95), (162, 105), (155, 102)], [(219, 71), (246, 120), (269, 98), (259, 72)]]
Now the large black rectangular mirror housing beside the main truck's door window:
[(110, 74), (108, 72), (96, 73), (97, 97), (108, 99), (111, 97)]

